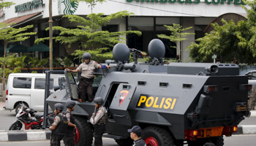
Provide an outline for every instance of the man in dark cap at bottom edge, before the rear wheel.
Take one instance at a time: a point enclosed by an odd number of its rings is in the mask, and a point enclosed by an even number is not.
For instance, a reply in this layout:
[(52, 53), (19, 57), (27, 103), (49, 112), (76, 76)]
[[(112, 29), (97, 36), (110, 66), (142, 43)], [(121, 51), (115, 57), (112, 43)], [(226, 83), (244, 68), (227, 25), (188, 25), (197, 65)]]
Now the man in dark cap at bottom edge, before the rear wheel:
[(140, 126), (133, 126), (131, 129), (128, 129), (131, 139), (134, 140), (132, 146), (146, 146), (146, 142), (141, 139), (141, 131)]

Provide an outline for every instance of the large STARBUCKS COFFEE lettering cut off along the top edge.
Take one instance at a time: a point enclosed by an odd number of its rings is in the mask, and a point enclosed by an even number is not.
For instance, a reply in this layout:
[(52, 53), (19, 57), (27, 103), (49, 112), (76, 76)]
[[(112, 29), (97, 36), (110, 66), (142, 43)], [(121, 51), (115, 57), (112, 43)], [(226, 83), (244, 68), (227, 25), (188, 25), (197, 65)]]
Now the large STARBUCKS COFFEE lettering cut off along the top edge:
[[(150, 3), (180, 3), (180, 4), (199, 4), (200, 0), (126, 0), (127, 2), (150, 2)], [(245, 5), (243, 0), (204, 0), (206, 4), (235, 4), (235, 5)]]

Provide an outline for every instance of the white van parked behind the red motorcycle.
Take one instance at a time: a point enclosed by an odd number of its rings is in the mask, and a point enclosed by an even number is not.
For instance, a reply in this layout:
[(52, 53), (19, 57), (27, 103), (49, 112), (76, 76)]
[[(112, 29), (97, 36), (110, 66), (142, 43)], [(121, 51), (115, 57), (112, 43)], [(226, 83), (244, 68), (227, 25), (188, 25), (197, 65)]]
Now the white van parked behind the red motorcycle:
[[(53, 80), (50, 80), (53, 87)], [(17, 113), (20, 102), (34, 111), (43, 111), (45, 103), (45, 74), (12, 73), (8, 77), (5, 108)]]

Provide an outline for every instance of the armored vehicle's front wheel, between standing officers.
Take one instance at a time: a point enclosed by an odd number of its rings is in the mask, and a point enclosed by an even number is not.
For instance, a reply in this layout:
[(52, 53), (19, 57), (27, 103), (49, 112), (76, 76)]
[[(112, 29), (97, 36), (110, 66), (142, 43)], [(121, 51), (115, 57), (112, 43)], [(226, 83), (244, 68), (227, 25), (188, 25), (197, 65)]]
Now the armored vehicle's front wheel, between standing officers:
[(74, 116), (75, 117), (75, 125), (77, 126), (77, 138), (76, 138), (76, 145), (77, 146), (91, 146), (92, 144), (92, 128), (91, 124), (87, 123), (87, 119)]

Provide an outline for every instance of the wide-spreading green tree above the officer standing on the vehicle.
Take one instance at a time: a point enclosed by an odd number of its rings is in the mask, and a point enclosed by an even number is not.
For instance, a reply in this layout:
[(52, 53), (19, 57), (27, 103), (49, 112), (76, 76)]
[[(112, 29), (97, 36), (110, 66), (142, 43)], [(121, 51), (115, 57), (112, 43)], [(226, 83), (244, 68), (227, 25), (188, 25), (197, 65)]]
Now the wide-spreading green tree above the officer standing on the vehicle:
[[(94, 1), (97, 2), (96, 0)], [(56, 42), (61, 42), (61, 44), (68, 44), (68, 47), (71, 47), (72, 43), (79, 42), (80, 46), (85, 49), (75, 50), (75, 53), (72, 53), (72, 55), (78, 56), (79, 58), (83, 53), (89, 52), (92, 55), (92, 59), (101, 62), (102, 58), (113, 58), (110, 53), (106, 52), (109, 50), (108, 47), (113, 47), (118, 42), (121, 42), (121, 40), (126, 40), (126, 38), (120, 36), (126, 34), (141, 35), (140, 31), (99, 31), (110, 20), (129, 17), (130, 15), (133, 15), (133, 13), (128, 11), (116, 12), (108, 16), (105, 16), (103, 13), (91, 13), (86, 18), (78, 15), (64, 15), (63, 17), (68, 18), (71, 23), (80, 23), (80, 26), (77, 26), (77, 28), (53, 26), (54, 31), (60, 31), (59, 36), (53, 37), (53, 39), (56, 39)], [(48, 31), (48, 29), (46, 30)], [(39, 43), (48, 39), (49, 37), (39, 38), (35, 42)]]

